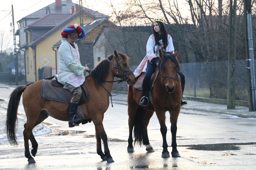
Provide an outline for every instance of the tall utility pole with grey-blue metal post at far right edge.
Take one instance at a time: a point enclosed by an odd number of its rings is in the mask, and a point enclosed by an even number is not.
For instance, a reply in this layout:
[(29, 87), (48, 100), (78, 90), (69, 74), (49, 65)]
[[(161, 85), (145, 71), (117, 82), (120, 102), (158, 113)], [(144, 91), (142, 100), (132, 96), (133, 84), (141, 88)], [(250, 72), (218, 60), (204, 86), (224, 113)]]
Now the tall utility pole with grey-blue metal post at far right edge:
[(244, 19), (245, 19), (245, 55), (247, 58), (247, 84), (248, 84), (248, 103), (249, 111), (256, 110), (256, 85), (253, 55), (252, 37), (252, 6), (251, 0), (244, 0)]

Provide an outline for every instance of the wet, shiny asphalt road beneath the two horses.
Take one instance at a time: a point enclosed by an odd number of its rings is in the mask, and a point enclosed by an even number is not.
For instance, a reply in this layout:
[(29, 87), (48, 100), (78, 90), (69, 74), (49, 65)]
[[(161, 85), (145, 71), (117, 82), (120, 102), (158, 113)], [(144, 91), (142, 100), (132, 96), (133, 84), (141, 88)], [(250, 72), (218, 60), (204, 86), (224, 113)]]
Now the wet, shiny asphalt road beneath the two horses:
[[(22, 104), (19, 107), (17, 126), (19, 145), (10, 145), (4, 131), (8, 96), (12, 90), (0, 88), (0, 169), (250, 170), (256, 167), (256, 119), (197, 111), (193, 108), (182, 109), (178, 118), (177, 149), (180, 158), (161, 158), (162, 136), (156, 115), (148, 126), (149, 140), (155, 152), (147, 153), (145, 146), (135, 145), (135, 152), (128, 153), (127, 106), (125, 102), (120, 102), (120, 97), (118, 100), (112, 97), (113, 107), (110, 103), (103, 121), (114, 163), (102, 161), (97, 155), (93, 123), (68, 128), (68, 122), (48, 118), (34, 130), (38, 142), (34, 158), (36, 163), (28, 164), (24, 156), (22, 132), (26, 117)], [(169, 113), (166, 113), (166, 117), (167, 141), (170, 145)]]

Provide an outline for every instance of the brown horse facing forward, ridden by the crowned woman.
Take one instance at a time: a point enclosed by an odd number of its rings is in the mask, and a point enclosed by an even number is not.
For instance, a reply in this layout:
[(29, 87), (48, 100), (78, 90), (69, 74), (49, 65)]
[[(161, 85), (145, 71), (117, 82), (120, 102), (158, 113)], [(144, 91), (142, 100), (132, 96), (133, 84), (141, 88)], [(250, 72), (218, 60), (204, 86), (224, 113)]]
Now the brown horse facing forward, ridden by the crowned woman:
[(177, 60), (178, 52), (174, 54), (170, 52), (162, 53), (160, 51), (160, 61), (158, 64), (159, 74), (156, 77), (153, 89), (151, 89), (152, 102), (148, 107), (140, 106), (142, 91), (136, 89), (133, 85), (128, 89), (128, 115), (129, 115), (129, 139), (128, 152), (134, 152), (133, 147), (133, 128), (135, 143), (146, 145), (148, 152), (154, 152), (153, 147), (149, 143), (147, 126), (150, 118), (156, 112), (160, 123), (160, 131), (163, 137), (162, 157), (170, 157), (168, 145), (166, 141), (167, 127), (165, 125), (165, 112), (170, 112), (171, 133), (172, 133), (172, 157), (180, 157), (177, 150), (176, 132), (177, 119), (181, 107), (182, 90), (178, 71), (180, 65)]

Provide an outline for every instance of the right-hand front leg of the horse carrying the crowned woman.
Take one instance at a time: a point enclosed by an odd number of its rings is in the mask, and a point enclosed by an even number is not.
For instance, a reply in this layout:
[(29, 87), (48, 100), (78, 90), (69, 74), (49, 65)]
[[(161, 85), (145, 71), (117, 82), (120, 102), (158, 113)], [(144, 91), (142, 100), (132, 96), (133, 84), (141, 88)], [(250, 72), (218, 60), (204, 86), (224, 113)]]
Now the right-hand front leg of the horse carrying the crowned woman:
[(177, 133), (177, 120), (178, 120), (178, 115), (179, 112), (177, 114), (173, 114), (175, 116), (171, 115), (171, 133), (172, 133), (172, 157), (180, 157), (180, 154), (177, 150), (177, 143), (176, 143), (176, 133)]

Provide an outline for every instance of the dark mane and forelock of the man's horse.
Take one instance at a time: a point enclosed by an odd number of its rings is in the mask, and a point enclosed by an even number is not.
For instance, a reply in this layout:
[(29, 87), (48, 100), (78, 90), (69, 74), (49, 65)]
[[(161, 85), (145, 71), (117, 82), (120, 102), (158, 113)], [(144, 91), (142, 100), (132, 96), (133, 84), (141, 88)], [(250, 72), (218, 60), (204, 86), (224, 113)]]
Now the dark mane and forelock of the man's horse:
[[(123, 57), (122, 59), (125, 60), (125, 62), (127, 62), (127, 64), (129, 64), (129, 57), (126, 56), (125, 54), (122, 54), (120, 52), (118, 52), (118, 54)], [(114, 57), (114, 55), (109, 55), (107, 58), (111, 61), (112, 58)], [(102, 82), (104, 82), (106, 80), (106, 77), (108, 75), (109, 72), (109, 66), (110, 63), (108, 62), (107, 59), (103, 59), (101, 60), (98, 65), (92, 70), (90, 76), (92, 76), (95, 80), (95, 83), (97, 82), (97, 84), (100, 84)]]

